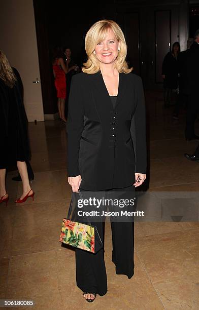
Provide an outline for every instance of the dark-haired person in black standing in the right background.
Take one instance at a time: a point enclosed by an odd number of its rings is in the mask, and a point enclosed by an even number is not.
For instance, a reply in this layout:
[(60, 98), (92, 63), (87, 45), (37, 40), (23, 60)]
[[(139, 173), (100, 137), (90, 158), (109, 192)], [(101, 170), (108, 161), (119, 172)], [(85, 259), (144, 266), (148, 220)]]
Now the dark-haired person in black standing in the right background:
[(178, 64), (177, 58), (180, 53), (180, 44), (175, 42), (172, 51), (167, 53), (162, 63), (162, 78), (164, 87), (164, 106), (171, 105), (172, 90), (178, 88)]

